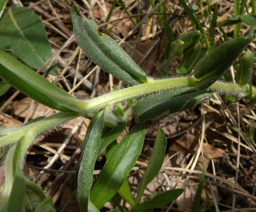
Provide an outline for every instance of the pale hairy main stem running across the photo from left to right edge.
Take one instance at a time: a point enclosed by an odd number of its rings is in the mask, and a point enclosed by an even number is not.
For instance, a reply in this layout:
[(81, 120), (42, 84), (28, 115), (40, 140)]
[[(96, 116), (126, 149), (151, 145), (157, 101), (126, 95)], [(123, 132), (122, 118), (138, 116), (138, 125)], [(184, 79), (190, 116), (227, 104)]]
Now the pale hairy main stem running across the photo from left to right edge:
[[(111, 108), (111, 106), (127, 101), (130, 99), (136, 99), (145, 95), (159, 93), (171, 89), (194, 87), (197, 83), (197, 79), (194, 77), (179, 77), (164, 80), (151, 80), (146, 83), (136, 85), (133, 87), (125, 88), (122, 90), (110, 92), (99, 96), (97, 98), (88, 101), (77, 101), (77, 105), (80, 108), (78, 112), (59, 112), (52, 116), (46, 117), (40, 121), (24, 125), (19, 128), (1, 129), (0, 130), (0, 148), (6, 145), (10, 145), (18, 141), (23, 135), (28, 132), (33, 136), (48, 131), (66, 121), (74, 119), (78, 116), (84, 116), (93, 114), (100, 109)], [(249, 86), (240, 86), (238, 84), (230, 84), (221, 81), (216, 81), (211, 85), (208, 90), (221, 93), (249, 93)], [(252, 87), (252, 93), (256, 93), (256, 88)]]

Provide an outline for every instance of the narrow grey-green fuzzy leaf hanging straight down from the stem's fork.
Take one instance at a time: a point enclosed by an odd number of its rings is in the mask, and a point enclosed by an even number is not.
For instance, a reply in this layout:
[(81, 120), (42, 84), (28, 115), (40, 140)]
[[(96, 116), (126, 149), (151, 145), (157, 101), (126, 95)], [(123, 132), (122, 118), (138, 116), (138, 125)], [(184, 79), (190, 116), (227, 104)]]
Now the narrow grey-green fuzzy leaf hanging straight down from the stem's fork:
[(98, 156), (103, 129), (104, 111), (97, 112), (89, 123), (81, 162), (78, 171), (78, 202), (81, 212), (88, 211), (89, 193), (92, 185), (94, 165)]

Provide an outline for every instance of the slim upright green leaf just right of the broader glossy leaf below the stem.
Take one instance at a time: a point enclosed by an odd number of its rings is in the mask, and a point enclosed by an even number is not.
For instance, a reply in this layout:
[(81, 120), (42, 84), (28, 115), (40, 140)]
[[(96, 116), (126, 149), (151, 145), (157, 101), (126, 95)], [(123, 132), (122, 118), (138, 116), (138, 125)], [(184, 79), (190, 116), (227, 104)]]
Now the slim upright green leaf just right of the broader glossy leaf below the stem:
[(156, 174), (160, 171), (165, 159), (166, 147), (167, 139), (165, 133), (161, 128), (159, 128), (156, 134), (156, 140), (154, 143), (153, 151), (151, 153), (147, 168), (139, 185), (135, 201), (136, 205), (138, 205), (138, 203), (140, 202), (147, 184), (151, 182), (155, 178)]

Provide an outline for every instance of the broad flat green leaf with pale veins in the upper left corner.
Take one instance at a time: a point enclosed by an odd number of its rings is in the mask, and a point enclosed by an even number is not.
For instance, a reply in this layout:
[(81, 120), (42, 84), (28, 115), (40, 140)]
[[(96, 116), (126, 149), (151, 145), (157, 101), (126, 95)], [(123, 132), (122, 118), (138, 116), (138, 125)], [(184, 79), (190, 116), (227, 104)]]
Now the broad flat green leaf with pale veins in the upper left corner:
[(10, 7), (0, 20), (0, 32), (0, 48), (11, 50), (33, 69), (53, 55), (44, 25), (32, 9)]

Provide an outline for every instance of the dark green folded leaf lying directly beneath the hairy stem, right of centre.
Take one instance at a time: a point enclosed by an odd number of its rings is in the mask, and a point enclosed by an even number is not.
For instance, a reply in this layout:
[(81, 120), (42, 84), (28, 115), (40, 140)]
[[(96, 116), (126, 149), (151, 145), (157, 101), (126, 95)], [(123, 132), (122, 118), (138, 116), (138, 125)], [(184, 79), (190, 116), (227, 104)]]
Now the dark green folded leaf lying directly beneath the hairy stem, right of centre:
[(210, 95), (211, 92), (195, 92), (195, 89), (190, 87), (146, 96), (134, 106), (135, 121), (143, 123), (146, 120), (157, 119), (170, 113), (187, 110), (199, 104), (203, 97), (209, 97)]

